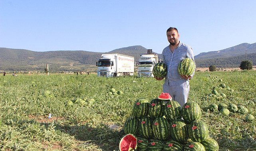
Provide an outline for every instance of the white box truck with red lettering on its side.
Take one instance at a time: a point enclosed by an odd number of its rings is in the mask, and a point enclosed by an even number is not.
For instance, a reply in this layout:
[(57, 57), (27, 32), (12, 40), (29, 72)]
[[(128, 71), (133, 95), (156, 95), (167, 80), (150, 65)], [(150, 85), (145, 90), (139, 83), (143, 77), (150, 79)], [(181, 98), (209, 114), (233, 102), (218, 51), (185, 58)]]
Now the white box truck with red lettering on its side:
[(98, 66), (98, 77), (133, 75), (134, 57), (123, 54), (102, 54), (96, 66)]

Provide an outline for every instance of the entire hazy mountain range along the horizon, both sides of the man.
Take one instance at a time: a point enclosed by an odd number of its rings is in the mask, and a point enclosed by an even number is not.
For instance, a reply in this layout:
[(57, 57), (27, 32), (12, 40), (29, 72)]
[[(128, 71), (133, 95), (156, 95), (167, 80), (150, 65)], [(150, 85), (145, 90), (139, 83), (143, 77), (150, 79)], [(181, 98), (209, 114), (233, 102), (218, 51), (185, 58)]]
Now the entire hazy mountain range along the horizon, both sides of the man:
[[(143, 46), (129, 46), (110, 52), (89, 51), (46, 51), (35, 52), (25, 49), (0, 48), (0, 70), (6, 71), (43, 71), (46, 64), (52, 71), (74, 71), (86, 68), (94, 68), (101, 54), (119, 53), (134, 56), (139, 60), (141, 54), (145, 54), (147, 48)], [(159, 60), (163, 58), (158, 54)], [(215, 65), (219, 68), (231, 68), (240, 66), (243, 60), (251, 60), (256, 65), (256, 43), (242, 43), (218, 51), (202, 52), (194, 56), (196, 66), (208, 68)]]

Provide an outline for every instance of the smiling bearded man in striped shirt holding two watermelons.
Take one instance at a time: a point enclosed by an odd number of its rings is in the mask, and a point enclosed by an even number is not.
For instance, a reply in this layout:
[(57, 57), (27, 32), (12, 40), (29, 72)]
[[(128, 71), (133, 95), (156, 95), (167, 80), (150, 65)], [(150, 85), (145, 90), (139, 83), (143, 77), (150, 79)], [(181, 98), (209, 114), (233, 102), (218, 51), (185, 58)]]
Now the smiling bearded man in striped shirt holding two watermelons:
[[(179, 75), (178, 65), (184, 58), (191, 58), (194, 61), (194, 54), (189, 45), (179, 41), (178, 30), (174, 27), (167, 29), (167, 39), (169, 46), (163, 49), (163, 63), (167, 65), (167, 75), (163, 84), (163, 92), (169, 93), (174, 101), (181, 107), (187, 103), (189, 96), (189, 79), (194, 75)], [(157, 80), (164, 78), (155, 77)]]

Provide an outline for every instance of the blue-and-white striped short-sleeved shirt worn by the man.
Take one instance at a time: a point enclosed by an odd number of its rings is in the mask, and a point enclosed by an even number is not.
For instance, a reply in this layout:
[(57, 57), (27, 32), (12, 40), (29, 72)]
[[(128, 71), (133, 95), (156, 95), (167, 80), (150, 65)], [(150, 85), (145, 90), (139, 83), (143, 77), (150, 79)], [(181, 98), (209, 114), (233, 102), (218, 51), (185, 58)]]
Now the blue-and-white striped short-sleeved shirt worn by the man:
[[(169, 46), (165, 47), (163, 52), (163, 62), (167, 65), (167, 75), (165, 77), (165, 85), (179, 85), (181, 83), (189, 82), (183, 79), (178, 72), (178, 65), (184, 58), (191, 58), (194, 61), (194, 54), (192, 48), (184, 43), (179, 43), (173, 52)], [(194, 73), (192, 74), (192, 76)]]

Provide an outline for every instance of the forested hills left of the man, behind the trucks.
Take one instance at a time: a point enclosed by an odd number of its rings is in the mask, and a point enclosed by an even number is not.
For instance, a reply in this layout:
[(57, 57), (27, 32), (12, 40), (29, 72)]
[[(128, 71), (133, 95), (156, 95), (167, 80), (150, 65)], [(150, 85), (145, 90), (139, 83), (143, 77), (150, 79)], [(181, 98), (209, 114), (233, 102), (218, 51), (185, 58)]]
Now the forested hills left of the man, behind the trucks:
[(49, 70), (52, 72), (83, 71), (85, 68), (93, 67), (93, 70), (95, 70), (95, 64), (101, 57), (101, 54), (125, 54), (134, 56), (136, 61), (139, 60), (141, 54), (146, 52), (147, 49), (143, 46), (129, 46), (103, 53), (89, 51), (35, 52), (24, 49), (0, 48), (0, 70), (43, 71), (46, 64), (49, 64)]

